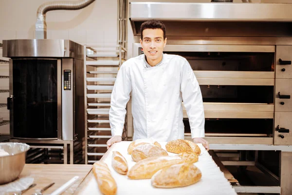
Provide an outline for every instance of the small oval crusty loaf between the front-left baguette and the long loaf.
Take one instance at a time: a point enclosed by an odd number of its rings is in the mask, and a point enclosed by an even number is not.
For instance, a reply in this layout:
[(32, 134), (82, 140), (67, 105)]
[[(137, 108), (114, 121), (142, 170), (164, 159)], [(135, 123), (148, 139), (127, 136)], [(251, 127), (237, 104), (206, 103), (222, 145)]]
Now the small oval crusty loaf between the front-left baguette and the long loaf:
[(111, 166), (119, 174), (125, 175), (128, 173), (128, 162), (126, 158), (118, 151), (112, 152)]

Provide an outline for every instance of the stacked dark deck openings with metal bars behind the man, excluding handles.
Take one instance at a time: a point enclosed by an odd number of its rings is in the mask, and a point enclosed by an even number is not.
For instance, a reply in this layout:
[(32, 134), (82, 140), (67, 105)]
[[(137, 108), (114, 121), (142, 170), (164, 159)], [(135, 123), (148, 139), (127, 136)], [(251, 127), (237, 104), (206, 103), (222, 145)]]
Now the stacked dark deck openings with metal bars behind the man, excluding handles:
[[(188, 60), (200, 84), (210, 143), (273, 144), (275, 46), (169, 44)], [(134, 43), (133, 56), (143, 54)], [(185, 139), (191, 139), (183, 107)], [(260, 138), (259, 138), (260, 137)]]

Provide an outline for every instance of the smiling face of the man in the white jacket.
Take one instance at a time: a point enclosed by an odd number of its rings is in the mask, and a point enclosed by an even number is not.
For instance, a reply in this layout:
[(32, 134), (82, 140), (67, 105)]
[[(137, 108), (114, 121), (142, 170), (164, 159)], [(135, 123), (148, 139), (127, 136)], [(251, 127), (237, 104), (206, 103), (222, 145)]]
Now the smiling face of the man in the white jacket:
[(162, 60), (163, 48), (166, 45), (166, 38), (163, 38), (163, 30), (159, 28), (143, 30), (143, 40), (140, 39), (140, 43), (150, 66), (155, 66)]

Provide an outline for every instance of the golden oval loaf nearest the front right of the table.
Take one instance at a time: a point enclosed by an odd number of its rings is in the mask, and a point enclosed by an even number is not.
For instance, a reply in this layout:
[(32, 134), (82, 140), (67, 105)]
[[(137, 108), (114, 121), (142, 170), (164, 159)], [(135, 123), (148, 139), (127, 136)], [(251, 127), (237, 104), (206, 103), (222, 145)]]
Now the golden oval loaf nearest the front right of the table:
[(175, 164), (156, 172), (151, 184), (157, 188), (176, 188), (189, 186), (201, 179), (201, 171), (192, 163)]

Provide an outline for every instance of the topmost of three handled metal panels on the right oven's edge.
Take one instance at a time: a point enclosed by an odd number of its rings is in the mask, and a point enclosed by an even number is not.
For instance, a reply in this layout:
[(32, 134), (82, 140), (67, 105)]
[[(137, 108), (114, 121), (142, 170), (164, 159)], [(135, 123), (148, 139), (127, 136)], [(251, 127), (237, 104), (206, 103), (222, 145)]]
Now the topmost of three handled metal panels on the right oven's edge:
[(276, 78), (292, 78), (292, 64), (281, 65), (279, 59), (292, 61), (292, 46), (276, 46)]

